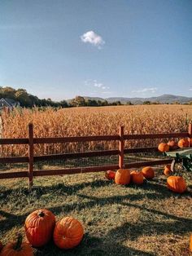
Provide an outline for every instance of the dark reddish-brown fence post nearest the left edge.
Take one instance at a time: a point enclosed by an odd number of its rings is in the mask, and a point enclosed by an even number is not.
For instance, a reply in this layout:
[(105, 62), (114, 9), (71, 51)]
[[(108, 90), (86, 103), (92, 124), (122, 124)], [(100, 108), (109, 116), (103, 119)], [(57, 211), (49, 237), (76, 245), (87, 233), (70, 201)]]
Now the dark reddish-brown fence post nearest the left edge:
[(33, 186), (33, 123), (28, 124), (28, 188)]

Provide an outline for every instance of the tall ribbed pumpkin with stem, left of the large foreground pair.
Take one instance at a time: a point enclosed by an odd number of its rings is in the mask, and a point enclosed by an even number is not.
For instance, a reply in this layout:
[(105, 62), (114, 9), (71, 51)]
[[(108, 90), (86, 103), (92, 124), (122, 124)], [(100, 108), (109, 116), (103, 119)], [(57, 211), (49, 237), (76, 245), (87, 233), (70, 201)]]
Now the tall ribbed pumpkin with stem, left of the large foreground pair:
[(54, 231), (55, 215), (50, 210), (35, 210), (26, 218), (24, 227), (31, 245), (34, 247), (46, 245)]

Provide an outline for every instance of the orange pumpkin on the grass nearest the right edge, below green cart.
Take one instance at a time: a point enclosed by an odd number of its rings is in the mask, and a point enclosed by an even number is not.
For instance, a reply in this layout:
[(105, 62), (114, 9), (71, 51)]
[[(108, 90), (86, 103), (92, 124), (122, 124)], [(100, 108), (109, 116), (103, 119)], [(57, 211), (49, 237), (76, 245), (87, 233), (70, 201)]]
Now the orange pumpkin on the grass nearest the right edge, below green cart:
[(185, 179), (181, 176), (169, 176), (167, 179), (167, 187), (173, 192), (183, 193), (186, 190)]

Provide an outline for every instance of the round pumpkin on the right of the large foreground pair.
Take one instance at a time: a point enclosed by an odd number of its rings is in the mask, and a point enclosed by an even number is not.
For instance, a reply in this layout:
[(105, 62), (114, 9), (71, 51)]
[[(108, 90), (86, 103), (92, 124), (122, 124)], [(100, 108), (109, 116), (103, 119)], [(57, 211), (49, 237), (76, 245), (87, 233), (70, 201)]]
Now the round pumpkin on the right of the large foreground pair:
[(54, 242), (60, 249), (72, 249), (80, 244), (83, 235), (81, 223), (76, 218), (66, 217), (55, 225)]

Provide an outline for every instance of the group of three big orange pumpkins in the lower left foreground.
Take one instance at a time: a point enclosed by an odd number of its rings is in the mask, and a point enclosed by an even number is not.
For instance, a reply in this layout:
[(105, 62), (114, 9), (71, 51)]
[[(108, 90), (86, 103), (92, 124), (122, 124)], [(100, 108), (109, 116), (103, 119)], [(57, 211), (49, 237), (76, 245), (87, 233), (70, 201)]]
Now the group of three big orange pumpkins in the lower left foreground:
[(24, 229), (28, 241), (22, 241), (21, 234), (17, 241), (5, 246), (0, 241), (0, 256), (33, 256), (33, 247), (44, 246), (51, 238), (60, 249), (72, 249), (80, 244), (84, 236), (84, 228), (76, 218), (65, 217), (55, 222), (55, 215), (46, 209), (29, 214)]

